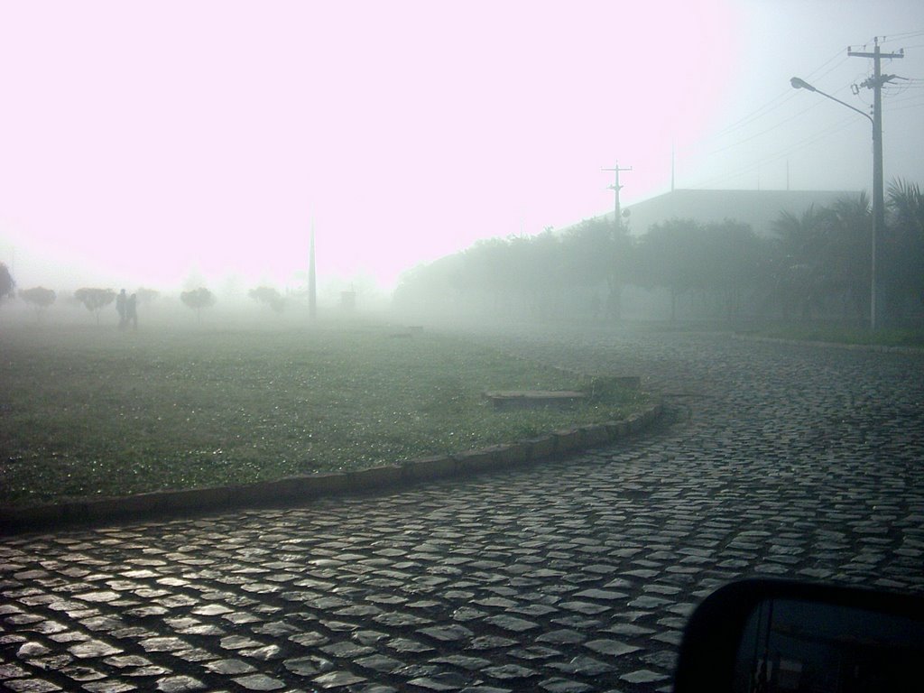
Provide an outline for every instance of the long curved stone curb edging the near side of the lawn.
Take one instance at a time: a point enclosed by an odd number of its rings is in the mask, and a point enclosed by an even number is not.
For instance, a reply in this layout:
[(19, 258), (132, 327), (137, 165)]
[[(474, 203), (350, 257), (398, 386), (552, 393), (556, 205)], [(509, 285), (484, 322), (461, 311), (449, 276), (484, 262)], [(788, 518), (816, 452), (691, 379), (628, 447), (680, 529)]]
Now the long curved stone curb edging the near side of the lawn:
[(614, 443), (649, 428), (663, 414), (657, 402), (627, 419), (557, 431), (514, 444), (498, 444), (448, 456), (422, 457), (399, 465), (324, 472), (183, 491), (159, 491), (58, 505), (0, 509), (0, 535), (112, 521), (176, 517), (209, 511), (301, 503), (313, 498), (382, 492), (427, 481), (466, 477), (562, 458)]

